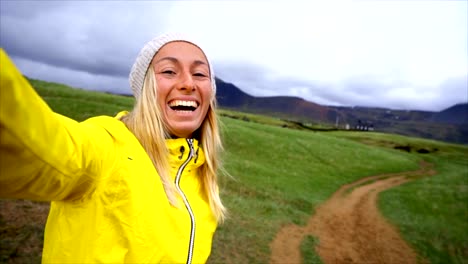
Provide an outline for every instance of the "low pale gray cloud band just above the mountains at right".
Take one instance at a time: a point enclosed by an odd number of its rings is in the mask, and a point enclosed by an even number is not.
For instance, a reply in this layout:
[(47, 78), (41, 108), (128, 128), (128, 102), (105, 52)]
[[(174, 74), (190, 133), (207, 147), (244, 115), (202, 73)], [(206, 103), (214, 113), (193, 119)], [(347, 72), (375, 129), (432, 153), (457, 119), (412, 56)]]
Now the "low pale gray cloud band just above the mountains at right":
[(428, 111), (443, 110), (454, 102), (468, 102), (467, 76), (447, 79), (441, 84), (434, 84), (434, 87), (373, 75), (324, 83), (281, 76), (249, 62), (217, 63), (215, 66), (221, 79), (232, 80), (233, 84), (254, 96), (289, 95), (324, 105)]

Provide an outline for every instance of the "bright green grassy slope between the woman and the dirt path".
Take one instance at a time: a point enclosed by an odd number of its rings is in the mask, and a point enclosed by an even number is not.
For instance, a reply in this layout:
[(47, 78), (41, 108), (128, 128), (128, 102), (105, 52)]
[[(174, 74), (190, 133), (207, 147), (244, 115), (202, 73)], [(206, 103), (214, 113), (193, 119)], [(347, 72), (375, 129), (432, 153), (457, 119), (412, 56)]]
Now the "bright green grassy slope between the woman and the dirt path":
[(215, 235), (212, 263), (266, 263), (279, 228), (304, 225), (341, 185), (418, 167), (411, 154), (328, 133), (223, 121), (226, 169), (235, 180), (222, 186), (231, 218)]

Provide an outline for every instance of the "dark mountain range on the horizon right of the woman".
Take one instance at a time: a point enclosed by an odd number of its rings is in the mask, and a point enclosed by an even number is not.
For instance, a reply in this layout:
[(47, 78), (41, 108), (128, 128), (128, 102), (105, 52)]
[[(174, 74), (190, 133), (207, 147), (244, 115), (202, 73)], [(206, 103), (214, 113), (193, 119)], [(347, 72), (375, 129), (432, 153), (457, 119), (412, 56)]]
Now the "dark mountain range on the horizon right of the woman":
[(327, 124), (342, 129), (370, 129), (468, 143), (468, 103), (440, 112), (337, 107), (291, 96), (255, 97), (221, 79), (216, 79), (216, 86), (219, 105), (237, 111), (272, 115), (296, 122)]

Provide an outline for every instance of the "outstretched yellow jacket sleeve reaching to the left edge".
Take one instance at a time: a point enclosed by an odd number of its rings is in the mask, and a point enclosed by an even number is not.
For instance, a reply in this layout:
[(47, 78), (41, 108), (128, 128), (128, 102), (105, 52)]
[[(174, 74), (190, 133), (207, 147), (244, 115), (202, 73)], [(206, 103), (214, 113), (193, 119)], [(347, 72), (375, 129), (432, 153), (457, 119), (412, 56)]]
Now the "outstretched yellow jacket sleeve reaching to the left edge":
[(103, 128), (54, 113), (0, 49), (0, 197), (80, 199), (111, 142)]

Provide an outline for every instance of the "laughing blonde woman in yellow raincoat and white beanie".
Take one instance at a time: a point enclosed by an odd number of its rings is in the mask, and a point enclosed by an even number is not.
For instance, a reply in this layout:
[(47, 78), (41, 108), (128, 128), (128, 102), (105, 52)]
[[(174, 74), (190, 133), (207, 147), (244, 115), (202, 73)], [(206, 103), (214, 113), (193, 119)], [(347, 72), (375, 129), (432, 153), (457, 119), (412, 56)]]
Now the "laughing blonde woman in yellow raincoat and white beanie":
[(53, 113), (1, 51), (1, 197), (52, 201), (43, 262), (200, 263), (224, 219), (215, 79), (181, 35), (148, 42), (133, 111)]

